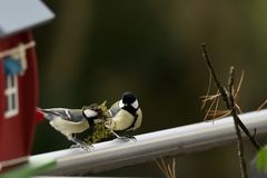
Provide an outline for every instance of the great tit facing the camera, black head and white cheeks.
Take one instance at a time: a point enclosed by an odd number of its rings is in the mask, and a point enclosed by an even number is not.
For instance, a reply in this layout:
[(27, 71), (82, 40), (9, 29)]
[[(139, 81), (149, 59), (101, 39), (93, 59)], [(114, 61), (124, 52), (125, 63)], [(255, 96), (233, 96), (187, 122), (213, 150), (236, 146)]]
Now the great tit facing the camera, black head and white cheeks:
[[(139, 107), (138, 99), (132, 92), (125, 92), (121, 99), (115, 102), (110, 109), (110, 123), (107, 126), (117, 138), (122, 138), (118, 136), (115, 131), (130, 131), (136, 130), (141, 126), (142, 111)], [(135, 137), (128, 137), (134, 138)]]

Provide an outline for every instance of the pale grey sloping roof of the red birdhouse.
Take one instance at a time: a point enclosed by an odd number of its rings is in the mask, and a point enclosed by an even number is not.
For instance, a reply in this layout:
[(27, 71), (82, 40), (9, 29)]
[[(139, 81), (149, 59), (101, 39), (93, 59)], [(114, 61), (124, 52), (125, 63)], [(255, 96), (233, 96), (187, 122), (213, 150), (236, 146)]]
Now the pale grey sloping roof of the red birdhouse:
[(31, 29), (53, 17), (41, 0), (0, 0), (0, 37)]

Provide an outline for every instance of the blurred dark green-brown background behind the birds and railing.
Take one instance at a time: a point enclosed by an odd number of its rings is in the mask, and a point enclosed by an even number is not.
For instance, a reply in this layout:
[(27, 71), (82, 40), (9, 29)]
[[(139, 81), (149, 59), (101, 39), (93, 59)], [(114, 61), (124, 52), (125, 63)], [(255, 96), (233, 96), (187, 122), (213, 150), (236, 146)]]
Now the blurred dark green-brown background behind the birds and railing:
[[(42, 108), (110, 106), (134, 91), (144, 111), (135, 132), (199, 122), (199, 97), (209, 72), (201, 57), (206, 42), (225, 83), (229, 66), (237, 80), (244, 111), (267, 99), (267, 1), (219, 0), (79, 0), (44, 1), (56, 13), (33, 30)], [(265, 140), (263, 140), (265, 141)], [(37, 127), (33, 154), (71, 144), (47, 121)], [(255, 154), (246, 145), (246, 157)], [(239, 177), (236, 145), (177, 157), (178, 177)], [(155, 162), (103, 172), (110, 176), (161, 176)]]

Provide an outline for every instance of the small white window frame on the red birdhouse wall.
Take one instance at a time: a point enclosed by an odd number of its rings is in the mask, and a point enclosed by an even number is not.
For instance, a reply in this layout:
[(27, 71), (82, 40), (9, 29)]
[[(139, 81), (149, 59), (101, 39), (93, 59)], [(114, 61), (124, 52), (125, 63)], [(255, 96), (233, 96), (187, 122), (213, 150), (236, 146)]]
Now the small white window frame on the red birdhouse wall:
[(6, 76), (4, 97), (6, 97), (4, 118), (9, 119), (19, 113), (18, 75)]

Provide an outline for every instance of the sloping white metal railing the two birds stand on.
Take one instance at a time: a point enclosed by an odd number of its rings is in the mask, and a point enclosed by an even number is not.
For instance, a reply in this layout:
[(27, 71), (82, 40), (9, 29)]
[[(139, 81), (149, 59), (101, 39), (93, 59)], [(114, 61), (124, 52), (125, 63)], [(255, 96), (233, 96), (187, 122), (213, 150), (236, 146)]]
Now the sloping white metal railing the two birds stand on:
[[(247, 128), (257, 136), (267, 134), (267, 110), (240, 115)], [(105, 171), (154, 160), (161, 156), (205, 150), (236, 139), (234, 121), (227, 117), (136, 136), (137, 141), (111, 140), (93, 145), (95, 149), (59, 150), (31, 156), (29, 161), (55, 159), (57, 165), (47, 175), (75, 175)]]

